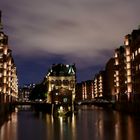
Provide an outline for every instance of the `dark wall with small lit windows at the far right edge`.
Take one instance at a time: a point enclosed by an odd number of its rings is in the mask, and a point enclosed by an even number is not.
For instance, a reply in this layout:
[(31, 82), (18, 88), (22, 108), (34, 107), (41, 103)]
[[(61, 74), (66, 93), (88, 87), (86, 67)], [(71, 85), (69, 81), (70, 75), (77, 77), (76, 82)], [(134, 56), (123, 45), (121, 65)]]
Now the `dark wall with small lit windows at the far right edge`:
[(130, 47), (131, 53), (131, 92), (132, 102), (140, 101), (140, 28), (133, 30), (131, 35), (127, 35), (125, 44)]

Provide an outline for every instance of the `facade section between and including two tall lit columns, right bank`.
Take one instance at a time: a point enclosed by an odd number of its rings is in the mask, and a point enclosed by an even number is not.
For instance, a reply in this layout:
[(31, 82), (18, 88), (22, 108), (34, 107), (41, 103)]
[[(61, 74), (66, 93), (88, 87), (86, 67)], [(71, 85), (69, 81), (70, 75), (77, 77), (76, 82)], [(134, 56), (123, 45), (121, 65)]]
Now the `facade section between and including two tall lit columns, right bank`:
[(117, 101), (128, 101), (132, 94), (132, 67), (130, 46), (125, 42), (124, 46), (115, 50), (115, 94)]

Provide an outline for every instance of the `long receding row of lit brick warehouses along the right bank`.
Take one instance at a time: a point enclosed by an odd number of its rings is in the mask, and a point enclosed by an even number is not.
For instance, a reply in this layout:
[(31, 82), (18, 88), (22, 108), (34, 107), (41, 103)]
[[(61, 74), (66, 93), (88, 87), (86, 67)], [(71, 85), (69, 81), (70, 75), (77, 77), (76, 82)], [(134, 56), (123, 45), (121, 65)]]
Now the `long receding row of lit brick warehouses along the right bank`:
[[(88, 80), (87, 80), (88, 81)], [(105, 70), (95, 74), (92, 98), (105, 97), (119, 102), (140, 101), (140, 28), (133, 30), (124, 38), (124, 44), (115, 49), (114, 57), (110, 58)], [(79, 83), (77, 94), (87, 98), (88, 84)]]

